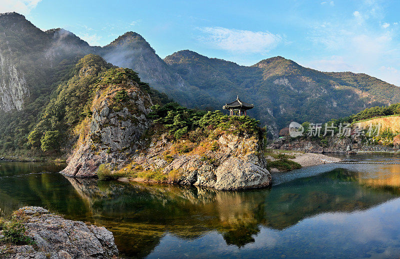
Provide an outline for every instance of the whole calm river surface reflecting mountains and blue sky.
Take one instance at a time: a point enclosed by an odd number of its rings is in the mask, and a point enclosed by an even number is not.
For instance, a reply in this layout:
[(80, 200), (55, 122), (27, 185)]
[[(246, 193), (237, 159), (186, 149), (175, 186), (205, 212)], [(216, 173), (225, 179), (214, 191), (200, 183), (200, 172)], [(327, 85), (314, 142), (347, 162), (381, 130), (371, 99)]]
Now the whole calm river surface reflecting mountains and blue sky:
[[(63, 166), (0, 163), (0, 208), (44, 206), (105, 226), (128, 258), (400, 255), (400, 219), (391, 217), (400, 212), (398, 165), (352, 165), (318, 175), (308, 168), (297, 175), (312, 176), (241, 192), (37, 174)], [(371, 229), (351, 228), (362, 222)]]

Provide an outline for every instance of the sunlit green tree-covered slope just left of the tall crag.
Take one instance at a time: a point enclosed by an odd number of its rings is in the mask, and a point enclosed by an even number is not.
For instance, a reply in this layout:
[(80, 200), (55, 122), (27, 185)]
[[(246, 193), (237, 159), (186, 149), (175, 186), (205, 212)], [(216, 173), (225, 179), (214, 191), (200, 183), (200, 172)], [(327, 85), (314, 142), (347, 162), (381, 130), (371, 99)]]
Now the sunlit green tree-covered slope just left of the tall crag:
[(89, 54), (81, 58), (74, 66), (71, 78), (60, 83), (52, 94), (53, 98), (28, 134), (28, 144), (38, 148), (45, 132), (57, 131), (58, 138), (66, 138), (71, 127), (90, 116), (89, 105), (97, 89), (100, 74), (110, 67), (111, 64), (97, 55)]

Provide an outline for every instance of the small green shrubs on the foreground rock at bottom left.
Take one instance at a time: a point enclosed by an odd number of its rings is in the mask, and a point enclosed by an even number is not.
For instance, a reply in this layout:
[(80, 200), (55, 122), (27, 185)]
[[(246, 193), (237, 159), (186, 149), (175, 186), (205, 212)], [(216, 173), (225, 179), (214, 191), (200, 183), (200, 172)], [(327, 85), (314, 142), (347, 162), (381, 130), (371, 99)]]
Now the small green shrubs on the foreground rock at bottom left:
[(0, 238), (0, 244), (33, 245), (33, 240), (25, 235), (24, 225), (15, 220), (3, 222), (0, 226), (4, 237)]

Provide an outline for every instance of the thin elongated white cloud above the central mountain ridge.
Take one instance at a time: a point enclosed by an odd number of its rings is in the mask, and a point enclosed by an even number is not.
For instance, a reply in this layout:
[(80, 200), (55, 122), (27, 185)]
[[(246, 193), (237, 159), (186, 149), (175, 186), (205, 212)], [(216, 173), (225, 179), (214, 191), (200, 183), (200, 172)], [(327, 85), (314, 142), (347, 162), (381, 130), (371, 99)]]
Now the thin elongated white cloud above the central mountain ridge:
[(265, 53), (282, 38), (268, 31), (249, 31), (223, 27), (203, 27), (205, 34), (199, 39), (213, 48), (232, 52)]

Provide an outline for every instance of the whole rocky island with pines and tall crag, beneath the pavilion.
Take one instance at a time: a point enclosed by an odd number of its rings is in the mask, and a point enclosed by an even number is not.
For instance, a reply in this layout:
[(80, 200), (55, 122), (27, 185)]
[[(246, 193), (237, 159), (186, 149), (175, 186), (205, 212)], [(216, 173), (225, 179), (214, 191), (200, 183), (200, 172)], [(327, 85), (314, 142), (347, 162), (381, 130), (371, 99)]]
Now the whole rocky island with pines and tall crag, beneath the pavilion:
[[(92, 59), (101, 61), (86, 56), (79, 80), (93, 76), (87, 72)], [(130, 69), (95, 76), (101, 82), (86, 104), (89, 115), (77, 126), (64, 175), (93, 177), (102, 166), (135, 181), (221, 190), (270, 185), (262, 130), (254, 119), (163, 104)]]

